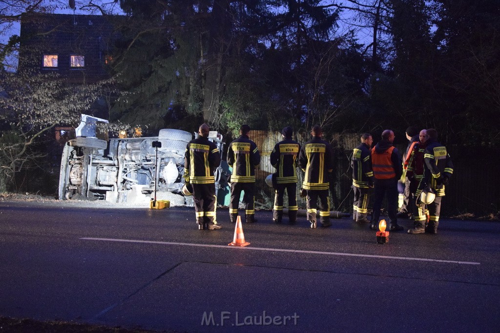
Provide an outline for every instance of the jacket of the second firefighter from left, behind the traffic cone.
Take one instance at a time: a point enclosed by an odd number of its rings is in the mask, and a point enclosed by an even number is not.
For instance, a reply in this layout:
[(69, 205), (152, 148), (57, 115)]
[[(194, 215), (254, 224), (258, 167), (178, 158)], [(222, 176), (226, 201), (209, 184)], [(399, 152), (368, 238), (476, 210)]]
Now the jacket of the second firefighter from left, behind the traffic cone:
[(241, 135), (229, 144), (227, 164), (232, 167), (231, 182), (255, 182), (255, 168), (260, 164), (260, 153), (248, 135)]

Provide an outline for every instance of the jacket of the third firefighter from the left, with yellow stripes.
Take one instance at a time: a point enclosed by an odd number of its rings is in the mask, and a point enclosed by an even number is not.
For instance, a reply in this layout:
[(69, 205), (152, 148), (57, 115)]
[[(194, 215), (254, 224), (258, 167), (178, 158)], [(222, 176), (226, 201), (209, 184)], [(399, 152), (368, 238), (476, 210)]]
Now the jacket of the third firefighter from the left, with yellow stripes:
[(276, 143), (271, 152), (270, 162), (276, 168), (276, 183), (297, 182), (297, 157), (300, 145), (290, 138)]

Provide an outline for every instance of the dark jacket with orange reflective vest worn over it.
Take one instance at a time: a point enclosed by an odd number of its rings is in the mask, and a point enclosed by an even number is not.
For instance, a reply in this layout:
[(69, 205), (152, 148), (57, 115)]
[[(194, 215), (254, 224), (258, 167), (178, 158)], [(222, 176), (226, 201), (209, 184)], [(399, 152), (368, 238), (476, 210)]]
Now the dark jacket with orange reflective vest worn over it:
[(371, 168), (375, 179), (401, 178), (401, 157), (392, 143), (381, 140), (371, 149)]

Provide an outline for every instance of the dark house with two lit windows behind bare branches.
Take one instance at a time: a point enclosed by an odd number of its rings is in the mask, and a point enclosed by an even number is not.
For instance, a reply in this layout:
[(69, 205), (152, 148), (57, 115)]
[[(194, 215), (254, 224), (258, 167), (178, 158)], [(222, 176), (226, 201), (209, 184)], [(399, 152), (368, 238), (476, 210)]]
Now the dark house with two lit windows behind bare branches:
[(22, 14), (19, 70), (57, 72), (70, 83), (94, 83), (108, 77), (114, 23), (123, 16)]

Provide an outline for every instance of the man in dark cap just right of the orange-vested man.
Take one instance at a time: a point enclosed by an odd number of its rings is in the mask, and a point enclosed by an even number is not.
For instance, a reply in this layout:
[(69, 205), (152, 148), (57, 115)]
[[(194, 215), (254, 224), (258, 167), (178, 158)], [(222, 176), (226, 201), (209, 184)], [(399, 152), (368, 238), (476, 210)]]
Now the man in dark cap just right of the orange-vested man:
[[(406, 147), (406, 153), (403, 156), (403, 174), (401, 176), (401, 181), (404, 184), (404, 190), (399, 194), (400, 196), (400, 208), (397, 212), (397, 217), (401, 219), (408, 219), (414, 211), (415, 202), (411, 200), (411, 189), (416, 189), (418, 187), (418, 182), (415, 184), (413, 180), (413, 167), (411, 163), (404, 166), (404, 162), (407, 157), (411, 156), (415, 144), (419, 140), (418, 128), (415, 126), (409, 126), (406, 128), (406, 139), (408, 139), (408, 146)], [(414, 191), (413, 191), (414, 193)]]

